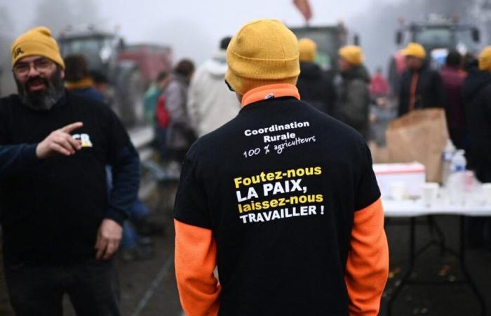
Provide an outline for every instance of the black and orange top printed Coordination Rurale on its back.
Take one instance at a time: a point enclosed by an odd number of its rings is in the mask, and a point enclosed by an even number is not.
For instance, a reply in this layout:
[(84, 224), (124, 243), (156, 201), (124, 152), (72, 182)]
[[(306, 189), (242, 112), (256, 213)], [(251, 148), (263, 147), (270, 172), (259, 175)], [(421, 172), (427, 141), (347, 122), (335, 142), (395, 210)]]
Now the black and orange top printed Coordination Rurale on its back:
[(188, 316), (378, 313), (389, 251), (370, 150), (295, 86), (249, 91), (191, 147), (175, 232)]

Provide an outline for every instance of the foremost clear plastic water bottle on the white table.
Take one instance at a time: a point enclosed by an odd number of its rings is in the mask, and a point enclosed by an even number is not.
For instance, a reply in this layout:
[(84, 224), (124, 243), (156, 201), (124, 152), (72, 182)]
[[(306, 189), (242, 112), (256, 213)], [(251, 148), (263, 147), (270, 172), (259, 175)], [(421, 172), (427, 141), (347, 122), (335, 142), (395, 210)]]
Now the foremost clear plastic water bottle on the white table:
[(448, 192), (452, 203), (463, 204), (466, 187), (466, 157), (464, 150), (457, 150), (450, 161), (450, 176), (448, 177)]

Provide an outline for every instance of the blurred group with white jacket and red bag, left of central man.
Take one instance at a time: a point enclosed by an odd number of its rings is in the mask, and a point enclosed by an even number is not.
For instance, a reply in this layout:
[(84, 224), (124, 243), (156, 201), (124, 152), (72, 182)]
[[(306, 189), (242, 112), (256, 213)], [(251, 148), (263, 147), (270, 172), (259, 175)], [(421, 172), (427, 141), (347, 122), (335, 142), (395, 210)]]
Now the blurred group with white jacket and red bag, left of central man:
[(233, 119), (240, 103), (224, 85), (225, 51), (230, 37), (220, 41), (217, 52), (194, 71), (183, 59), (172, 72), (162, 72), (145, 94), (145, 112), (155, 126), (161, 161), (179, 169), (194, 141)]

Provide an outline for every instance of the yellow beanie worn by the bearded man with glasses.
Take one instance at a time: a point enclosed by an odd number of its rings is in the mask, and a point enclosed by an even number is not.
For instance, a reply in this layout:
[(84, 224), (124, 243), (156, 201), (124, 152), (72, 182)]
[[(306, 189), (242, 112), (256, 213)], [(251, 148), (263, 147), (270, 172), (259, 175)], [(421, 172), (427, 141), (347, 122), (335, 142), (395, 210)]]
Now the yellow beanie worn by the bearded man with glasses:
[(47, 27), (34, 27), (20, 35), (11, 46), (12, 65), (21, 58), (39, 55), (53, 60), (65, 69), (65, 62), (60, 55), (58, 43), (51, 37), (51, 31)]

